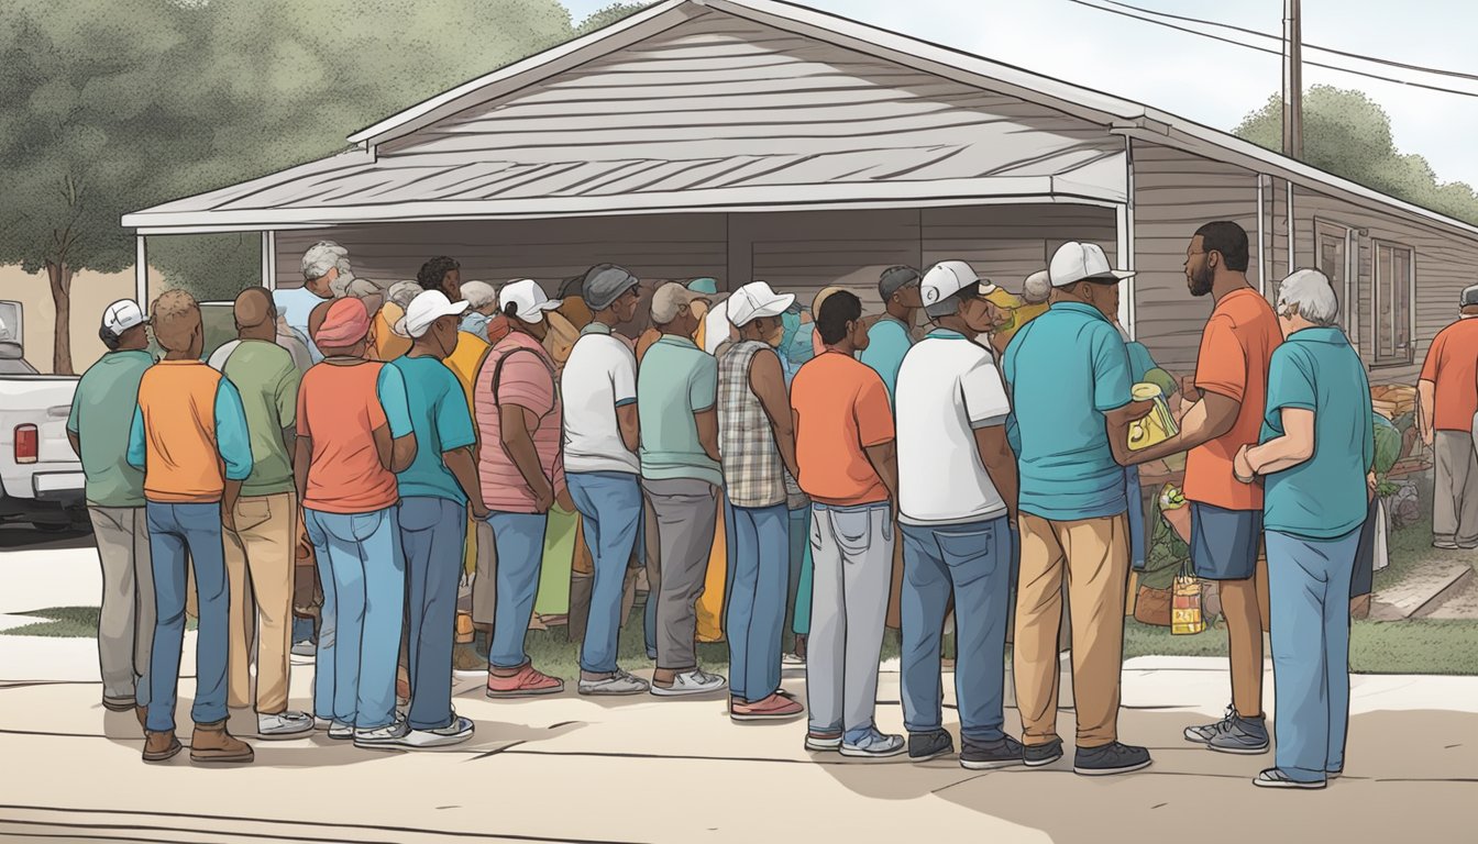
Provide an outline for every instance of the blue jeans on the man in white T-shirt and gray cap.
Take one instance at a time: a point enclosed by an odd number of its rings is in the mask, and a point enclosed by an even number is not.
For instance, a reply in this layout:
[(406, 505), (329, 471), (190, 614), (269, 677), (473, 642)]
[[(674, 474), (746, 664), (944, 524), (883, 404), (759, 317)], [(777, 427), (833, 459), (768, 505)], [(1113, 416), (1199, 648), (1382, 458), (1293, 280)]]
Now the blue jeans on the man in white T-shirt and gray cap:
[[(575, 510), (585, 520), (585, 544), (596, 569), (579, 668), (612, 674), (621, 636), (621, 596), (641, 526), (641, 483), (627, 472), (575, 472), (566, 474), (565, 482)], [(652, 603), (655, 609), (656, 602)]]

